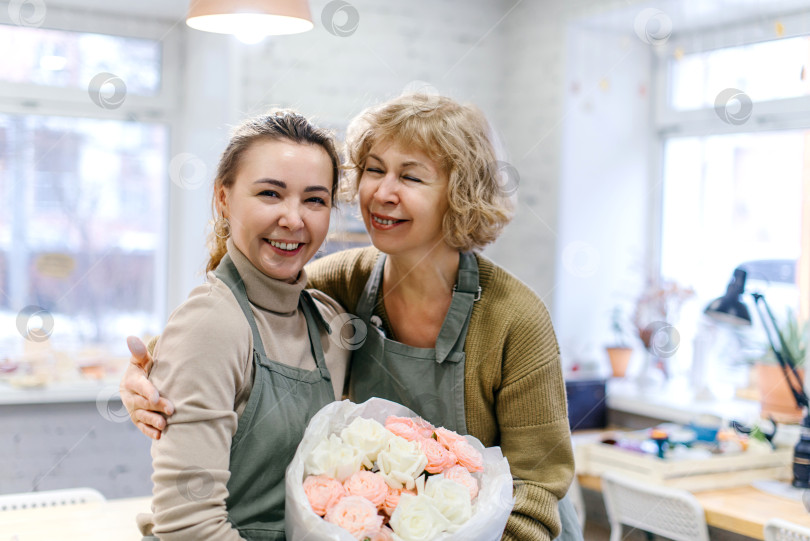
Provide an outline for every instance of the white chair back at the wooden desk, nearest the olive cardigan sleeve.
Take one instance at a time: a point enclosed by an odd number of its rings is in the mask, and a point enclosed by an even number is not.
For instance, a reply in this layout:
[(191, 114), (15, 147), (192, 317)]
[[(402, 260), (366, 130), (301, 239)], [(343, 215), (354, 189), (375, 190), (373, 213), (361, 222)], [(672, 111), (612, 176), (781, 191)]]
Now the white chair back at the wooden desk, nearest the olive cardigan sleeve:
[(610, 541), (622, 539), (622, 524), (674, 541), (709, 541), (703, 507), (685, 490), (607, 472), (602, 476), (602, 496), (610, 521)]

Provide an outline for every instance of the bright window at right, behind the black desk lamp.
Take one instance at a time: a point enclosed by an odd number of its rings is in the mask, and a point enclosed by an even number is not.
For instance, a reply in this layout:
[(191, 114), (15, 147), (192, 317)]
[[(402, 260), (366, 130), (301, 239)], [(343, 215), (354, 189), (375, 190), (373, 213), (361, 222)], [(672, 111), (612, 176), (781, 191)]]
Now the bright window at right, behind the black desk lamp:
[[(810, 198), (810, 37), (673, 55), (657, 69), (665, 83), (660, 270), (696, 292), (679, 322), (687, 361), (679, 364), (688, 367), (702, 309), (725, 291), (735, 267), (798, 262), (808, 249), (801, 220)], [(777, 317), (798, 310), (797, 287), (749, 278), (747, 291), (764, 291)], [(745, 302), (755, 318), (748, 335), (764, 347), (749, 295)], [(740, 361), (746, 352), (728, 356)]]

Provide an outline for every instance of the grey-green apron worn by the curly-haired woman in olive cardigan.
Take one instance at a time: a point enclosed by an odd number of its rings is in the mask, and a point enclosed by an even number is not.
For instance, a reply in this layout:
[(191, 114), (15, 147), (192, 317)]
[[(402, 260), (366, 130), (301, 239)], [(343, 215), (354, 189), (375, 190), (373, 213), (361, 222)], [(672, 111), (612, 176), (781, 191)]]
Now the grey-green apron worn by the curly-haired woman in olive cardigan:
[[(365, 342), (352, 354), (349, 398), (379, 397), (398, 402), (436, 426), (467, 434), (464, 416), (464, 344), (475, 301), (481, 298), (478, 261), (459, 254), (458, 282), (435, 348), (417, 348), (391, 340), (374, 316), (382, 287), (385, 254), (380, 254), (357, 304), (368, 327)], [(581, 541), (576, 510), (566, 496), (559, 503), (563, 531), (557, 539)]]

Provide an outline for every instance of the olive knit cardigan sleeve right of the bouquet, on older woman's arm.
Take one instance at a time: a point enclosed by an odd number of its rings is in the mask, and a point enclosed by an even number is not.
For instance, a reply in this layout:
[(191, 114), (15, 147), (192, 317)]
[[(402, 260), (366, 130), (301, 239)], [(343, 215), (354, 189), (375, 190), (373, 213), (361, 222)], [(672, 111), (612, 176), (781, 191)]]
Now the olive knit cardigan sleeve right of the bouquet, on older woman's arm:
[(503, 539), (545, 541), (560, 533), (557, 504), (574, 459), (557, 339), (545, 305), (536, 297), (531, 304), (506, 337), (495, 408), (515, 486)]

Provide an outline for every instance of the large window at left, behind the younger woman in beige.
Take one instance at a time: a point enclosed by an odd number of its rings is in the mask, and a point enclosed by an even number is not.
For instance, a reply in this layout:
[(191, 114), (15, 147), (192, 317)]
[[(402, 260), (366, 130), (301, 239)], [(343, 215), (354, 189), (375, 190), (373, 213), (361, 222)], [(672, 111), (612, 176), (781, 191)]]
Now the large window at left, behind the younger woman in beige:
[(21, 385), (74, 381), (165, 321), (175, 45), (142, 26), (0, 25), (19, 52), (0, 57), (0, 362)]

